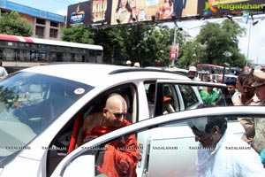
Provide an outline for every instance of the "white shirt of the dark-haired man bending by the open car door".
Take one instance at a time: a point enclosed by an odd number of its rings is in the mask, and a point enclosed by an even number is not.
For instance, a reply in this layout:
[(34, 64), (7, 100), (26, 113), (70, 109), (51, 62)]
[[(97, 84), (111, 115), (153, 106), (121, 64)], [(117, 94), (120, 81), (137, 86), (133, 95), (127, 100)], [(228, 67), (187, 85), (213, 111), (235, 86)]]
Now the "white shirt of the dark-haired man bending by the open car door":
[(258, 153), (235, 135), (225, 133), (215, 150), (198, 150), (198, 177), (264, 177)]

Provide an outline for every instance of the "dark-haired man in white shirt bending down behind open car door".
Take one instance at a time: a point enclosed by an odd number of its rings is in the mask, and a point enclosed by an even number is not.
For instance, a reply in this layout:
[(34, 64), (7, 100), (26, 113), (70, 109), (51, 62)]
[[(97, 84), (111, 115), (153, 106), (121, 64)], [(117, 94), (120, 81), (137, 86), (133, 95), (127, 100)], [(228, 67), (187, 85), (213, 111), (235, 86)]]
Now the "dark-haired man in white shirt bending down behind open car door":
[[(199, 142), (197, 177), (264, 176), (261, 158), (249, 144), (227, 130), (224, 117), (190, 119), (195, 141)], [(241, 147), (231, 150), (231, 147)]]

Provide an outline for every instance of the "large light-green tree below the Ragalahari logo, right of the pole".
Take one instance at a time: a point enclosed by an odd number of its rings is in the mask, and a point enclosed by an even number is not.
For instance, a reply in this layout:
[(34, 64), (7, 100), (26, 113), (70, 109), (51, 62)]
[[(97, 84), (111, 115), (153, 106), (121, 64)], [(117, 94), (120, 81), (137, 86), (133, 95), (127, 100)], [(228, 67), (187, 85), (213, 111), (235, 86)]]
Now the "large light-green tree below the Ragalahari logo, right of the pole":
[[(223, 20), (222, 24), (208, 23), (201, 28), (197, 36), (197, 42), (206, 46), (207, 63), (223, 65), (229, 63), (234, 66), (243, 66), (246, 58), (239, 53), (238, 37), (244, 34), (245, 28), (229, 19)], [(225, 57), (225, 51), (231, 52), (231, 57)]]

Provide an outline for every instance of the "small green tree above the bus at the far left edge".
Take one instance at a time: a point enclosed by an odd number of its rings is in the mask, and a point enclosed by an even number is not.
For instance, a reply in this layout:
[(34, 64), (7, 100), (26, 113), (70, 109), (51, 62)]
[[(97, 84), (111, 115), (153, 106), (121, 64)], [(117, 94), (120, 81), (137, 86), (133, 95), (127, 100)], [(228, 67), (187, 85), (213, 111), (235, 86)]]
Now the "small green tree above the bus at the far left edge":
[(0, 18), (0, 33), (5, 35), (31, 36), (33, 29), (27, 19), (19, 16), (18, 12), (6, 12)]

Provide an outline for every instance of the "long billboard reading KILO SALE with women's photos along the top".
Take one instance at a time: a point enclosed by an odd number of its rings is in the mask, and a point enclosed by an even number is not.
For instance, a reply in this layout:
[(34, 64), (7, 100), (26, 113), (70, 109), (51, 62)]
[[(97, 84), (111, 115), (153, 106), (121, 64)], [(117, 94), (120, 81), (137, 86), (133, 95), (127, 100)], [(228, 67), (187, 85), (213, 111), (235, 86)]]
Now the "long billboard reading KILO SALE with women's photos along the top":
[(170, 20), (231, 13), (234, 10), (264, 12), (265, 0), (90, 0), (68, 6), (67, 27), (118, 25), (150, 20)]

